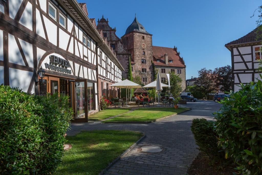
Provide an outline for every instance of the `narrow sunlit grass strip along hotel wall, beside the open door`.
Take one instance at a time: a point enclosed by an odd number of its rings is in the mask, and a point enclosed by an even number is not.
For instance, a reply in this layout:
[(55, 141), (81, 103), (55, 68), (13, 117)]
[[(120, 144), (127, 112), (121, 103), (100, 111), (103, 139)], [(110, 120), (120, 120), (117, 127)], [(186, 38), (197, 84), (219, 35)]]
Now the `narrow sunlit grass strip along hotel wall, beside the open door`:
[(105, 109), (95, 114), (89, 115), (88, 120), (103, 120), (112, 116), (124, 114), (130, 110), (131, 108)]

